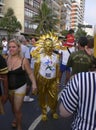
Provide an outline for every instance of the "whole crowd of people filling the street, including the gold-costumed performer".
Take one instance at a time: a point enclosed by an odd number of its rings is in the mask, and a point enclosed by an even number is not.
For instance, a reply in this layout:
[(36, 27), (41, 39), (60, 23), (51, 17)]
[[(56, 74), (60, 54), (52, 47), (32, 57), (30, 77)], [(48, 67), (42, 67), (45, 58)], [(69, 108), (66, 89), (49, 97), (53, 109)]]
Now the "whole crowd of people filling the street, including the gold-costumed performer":
[[(9, 100), (14, 114), (12, 127), (22, 130), (23, 101), (33, 101), (30, 97), (33, 93), (38, 96), (43, 121), (48, 119), (47, 107), (50, 107), (53, 119), (58, 119), (59, 115), (74, 115), (72, 130), (95, 130), (94, 39), (80, 37), (77, 49), (72, 29), (64, 42), (52, 33), (40, 38), (30, 40), (19, 36), (8, 42), (5, 38), (2, 39), (0, 114), (4, 114), (4, 104)], [(63, 73), (64, 87), (59, 90)], [(59, 91), (61, 95), (58, 101)]]

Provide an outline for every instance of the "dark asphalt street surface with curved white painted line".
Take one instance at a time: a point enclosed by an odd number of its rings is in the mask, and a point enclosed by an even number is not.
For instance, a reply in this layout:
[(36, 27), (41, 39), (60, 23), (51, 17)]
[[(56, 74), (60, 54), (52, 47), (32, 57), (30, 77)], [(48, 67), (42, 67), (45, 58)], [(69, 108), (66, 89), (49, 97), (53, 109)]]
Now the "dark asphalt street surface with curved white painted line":
[[(48, 109), (48, 120), (46, 122), (41, 121), (41, 109), (38, 104), (37, 96), (33, 95), (32, 98), (34, 98), (34, 101), (23, 103), (22, 107), (23, 130), (71, 130), (71, 123), (73, 117), (68, 117), (64, 119), (59, 116), (58, 120), (54, 120), (51, 118), (49, 109)], [(15, 128), (11, 127), (11, 123), (14, 116), (11, 111), (10, 102), (7, 101), (4, 107), (5, 107), (5, 114), (0, 115), (0, 130), (16, 130)]]

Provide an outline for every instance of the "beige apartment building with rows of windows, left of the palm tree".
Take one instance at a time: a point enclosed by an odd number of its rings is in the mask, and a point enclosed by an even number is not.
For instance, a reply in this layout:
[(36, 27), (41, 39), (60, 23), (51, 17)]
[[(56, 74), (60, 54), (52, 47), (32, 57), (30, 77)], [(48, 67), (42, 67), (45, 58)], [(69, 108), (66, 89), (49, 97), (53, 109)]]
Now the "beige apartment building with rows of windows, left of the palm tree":
[(32, 34), (36, 25), (32, 24), (32, 16), (37, 13), (41, 0), (4, 0), (4, 12), (8, 8), (14, 10), (14, 14), (22, 25), (21, 34)]

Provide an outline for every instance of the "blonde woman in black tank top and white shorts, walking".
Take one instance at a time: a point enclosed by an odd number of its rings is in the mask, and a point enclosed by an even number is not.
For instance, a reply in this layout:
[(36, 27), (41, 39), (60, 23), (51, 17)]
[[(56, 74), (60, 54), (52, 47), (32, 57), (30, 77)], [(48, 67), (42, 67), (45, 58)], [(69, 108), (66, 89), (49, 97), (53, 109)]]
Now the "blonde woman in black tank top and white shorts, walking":
[(13, 127), (17, 127), (17, 130), (22, 130), (22, 104), (26, 94), (26, 76), (27, 72), (31, 82), (32, 91), (36, 91), (37, 86), (33, 72), (30, 68), (29, 61), (23, 58), (21, 54), (20, 42), (16, 39), (9, 41), (9, 56), (7, 59), (8, 65), (8, 83), (9, 83), (9, 100), (12, 105), (12, 111), (14, 113), (14, 120), (12, 122)]

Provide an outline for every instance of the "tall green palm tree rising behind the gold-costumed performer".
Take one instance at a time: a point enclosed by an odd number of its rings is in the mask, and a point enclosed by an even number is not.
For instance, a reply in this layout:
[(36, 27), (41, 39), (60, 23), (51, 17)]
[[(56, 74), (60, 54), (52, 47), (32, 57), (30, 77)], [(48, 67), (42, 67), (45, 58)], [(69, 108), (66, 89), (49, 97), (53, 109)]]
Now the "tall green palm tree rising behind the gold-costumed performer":
[(38, 14), (33, 16), (32, 21), (37, 24), (35, 32), (44, 34), (48, 31), (56, 31), (56, 25), (59, 22), (59, 19), (52, 9), (47, 6), (46, 1), (44, 0), (38, 9)]

